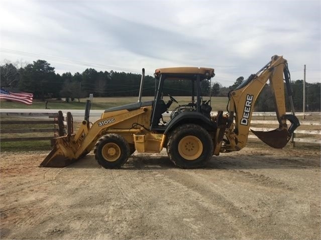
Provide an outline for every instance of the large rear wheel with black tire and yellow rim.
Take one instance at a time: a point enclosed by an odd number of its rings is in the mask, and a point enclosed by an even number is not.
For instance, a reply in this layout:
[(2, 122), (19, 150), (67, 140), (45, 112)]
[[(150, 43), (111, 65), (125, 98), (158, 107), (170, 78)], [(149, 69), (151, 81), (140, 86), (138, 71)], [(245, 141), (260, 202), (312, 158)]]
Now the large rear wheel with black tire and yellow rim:
[(177, 127), (167, 141), (169, 159), (180, 168), (202, 167), (212, 153), (213, 142), (209, 133), (197, 124)]

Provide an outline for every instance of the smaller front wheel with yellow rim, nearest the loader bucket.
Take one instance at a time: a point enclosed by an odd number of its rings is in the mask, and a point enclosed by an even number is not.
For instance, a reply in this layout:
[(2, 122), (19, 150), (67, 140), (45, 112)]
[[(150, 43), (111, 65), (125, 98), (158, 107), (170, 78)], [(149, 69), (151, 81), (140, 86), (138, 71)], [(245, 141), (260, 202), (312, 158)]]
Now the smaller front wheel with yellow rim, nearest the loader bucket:
[(128, 160), (130, 148), (122, 136), (106, 134), (98, 139), (93, 152), (104, 168), (120, 168)]

